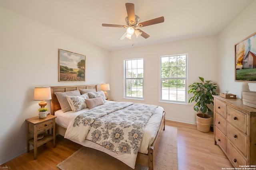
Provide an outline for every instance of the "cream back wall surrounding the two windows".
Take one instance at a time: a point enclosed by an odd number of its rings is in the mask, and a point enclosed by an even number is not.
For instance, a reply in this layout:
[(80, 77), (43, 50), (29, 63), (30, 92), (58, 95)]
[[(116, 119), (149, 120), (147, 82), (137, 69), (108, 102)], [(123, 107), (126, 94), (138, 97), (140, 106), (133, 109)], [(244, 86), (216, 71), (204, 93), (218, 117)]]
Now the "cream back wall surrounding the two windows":
[[(194, 104), (173, 104), (159, 102), (160, 56), (188, 54), (188, 85), (199, 82), (200, 77), (217, 82), (217, 37), (189, 39), (113, 51), (110, 53), (110, 91), (115, 101), (141, 102), (164, 107), (166, 119), (196, 123)], [(124, 60), (144, 58), (145, 100), (124, 99)], [(191, 96), (189, 96), (191, 97)]]

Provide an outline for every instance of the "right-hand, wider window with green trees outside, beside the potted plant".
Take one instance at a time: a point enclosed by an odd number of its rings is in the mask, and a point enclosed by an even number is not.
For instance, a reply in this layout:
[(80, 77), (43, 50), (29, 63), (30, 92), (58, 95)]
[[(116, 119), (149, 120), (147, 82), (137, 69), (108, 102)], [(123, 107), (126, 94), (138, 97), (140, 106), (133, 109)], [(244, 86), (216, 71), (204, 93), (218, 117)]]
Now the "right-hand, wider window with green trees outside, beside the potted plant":
[(160, 101), (188, 102), (187, 60), (187, 54), (160, 57)]

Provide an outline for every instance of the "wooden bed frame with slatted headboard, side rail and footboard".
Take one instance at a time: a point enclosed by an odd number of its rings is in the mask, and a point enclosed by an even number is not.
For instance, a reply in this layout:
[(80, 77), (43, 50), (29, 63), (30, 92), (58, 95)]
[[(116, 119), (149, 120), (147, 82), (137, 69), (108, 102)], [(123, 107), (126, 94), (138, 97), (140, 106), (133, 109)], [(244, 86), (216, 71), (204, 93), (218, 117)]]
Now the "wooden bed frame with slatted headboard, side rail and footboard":
[[(54, 115), (55, 111), (60, 110), (60, 104), (55, 92), (68, 92), (72, 90), (80, 90), (80, 89), (89, 89), (89, 88), (96, 88), (98, 91), (98, 85), (80, 85), (80, 86), (54, 86), (51, 87), (51, 94), (52, 94), (52, 101), (51, 101), (51, 114)], [(163, 112), (162, 120), (160, 123), (160, 128), (156, 134), (156, 138), (152, 145), (148, 147), (148, 154), (142, 154), (138, 152), (136, 163), (142, 166), (149, 167), (149, 170), (154, 170), (155, 164), (155, 157), (158, 151), (160, 139), (162, 137), (162, 132), (164, 131), (165, 127), (165, 112)], [(61, 127), (60, 125), (56, 124), (56, 133), (62, 136), (66, 133), (66, 128)]]

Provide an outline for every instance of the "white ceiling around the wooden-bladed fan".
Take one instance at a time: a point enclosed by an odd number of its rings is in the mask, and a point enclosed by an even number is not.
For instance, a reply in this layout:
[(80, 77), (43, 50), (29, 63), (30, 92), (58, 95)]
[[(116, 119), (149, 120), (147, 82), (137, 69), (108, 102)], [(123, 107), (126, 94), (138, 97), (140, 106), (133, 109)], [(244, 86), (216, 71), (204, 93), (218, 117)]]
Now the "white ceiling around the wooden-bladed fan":
[[(253, 0), (0, 0), (0, 6), (88, 43), (114, 51), (217, 35)], [(164, 16), (164, 23), (142, 27), (150, 37), (118, 40), (126, 25), (125, 3), (135, 5), (140, 22)]]

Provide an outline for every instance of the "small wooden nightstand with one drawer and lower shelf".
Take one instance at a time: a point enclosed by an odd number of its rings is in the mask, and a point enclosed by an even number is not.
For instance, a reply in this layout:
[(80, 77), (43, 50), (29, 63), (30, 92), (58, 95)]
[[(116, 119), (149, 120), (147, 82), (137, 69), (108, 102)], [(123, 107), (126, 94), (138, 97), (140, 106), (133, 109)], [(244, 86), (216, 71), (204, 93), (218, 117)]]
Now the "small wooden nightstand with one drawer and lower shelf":
[[(37, 158), (37, 147), (53, 140), (53, 147), (55, 148), (55, 118), (54, 115), (47, 115), (45, 118), (36, 116), (26, 119), (27, 152), (29, 152), (29, 145), (32, 145), (34, 147), (34, 160)], [(43, 134), (44, 137), (37, 139), (39, 134)]]

